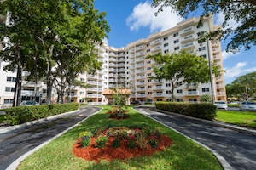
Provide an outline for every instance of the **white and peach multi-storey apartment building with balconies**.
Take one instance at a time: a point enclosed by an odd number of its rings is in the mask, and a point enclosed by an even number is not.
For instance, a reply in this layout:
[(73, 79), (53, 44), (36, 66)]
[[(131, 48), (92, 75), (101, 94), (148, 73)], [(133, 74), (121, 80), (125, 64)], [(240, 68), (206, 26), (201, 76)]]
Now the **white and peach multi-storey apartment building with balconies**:
[[(171, 100), (171, 84), (165, 80), (159, 82), (150, 80), (148, 77), (154, 74), (152, 65), (154, 61), (146, 59), (148, 54), (162, 52), (174, 53), (185, 49), (193, 52), (205, 59), (215, 62), (220, 68), (223, 68), (221, 45), (218, 41), (197, 42), (204, 31), (211, 32), (217, 30), (220, 26), (213, 25), (213, 16), (207, 17), (201, 26), (198, 26), (199, 18), (190, 18), (177, 23), (177, 26), (166, 31), (159, 31), (149, 35), (146, 39), (139, 39), (136, 42), (127, 44), (126, 47), (114, 48), (106, 44), (102, 46), (96, 45), (100, 60), (102, 61), (102, 71), (96, 71), (95, 75), (86, 73), (79, 75), (77, 79), (86, 82), (88, 88), (73, 87), (72, 101), (84, 103), (89, 101), (91, 105), (108, 104), (109, 100), (102, 95), (102, 91), (108, 88), (119, 87), (125, 83), (133, 94), (130, 101), (141, 100), (142, 102), (168, 101)], [(0, 104), (11, 103), (11, 89), (14, 87), (15, 75), (3, 73), (1, 66), (0, 77), (6, 80), (0, 86)], [(195, 73), (196, 74), (196, 73)], [(12, 85), (11, 85), (12, 84)], [(24, 82), (23, 96), (30, 96), (32, 90), (30, 86), (32, 82)], [(30, 90), (30, 92), (28, 92)], [(55, 93), (54, 93), (55, 94)], [(200, 84), (194, 87), (193, 84), (185, 84), (175, 89), (175, 98), (178, 102), (199, 103), (201, 96), (204, 94), (212, 95), (214, 100), (226, 100), (224, 74), (220, 77), (212, 77), (212, 85), (210, 82)], [(6, 96), (6, 97), (2, 97)], [(38, 87), (39, 100), (42, 101), (46, 97), (46, 86), (41, 84)], [(55, 97), (56, 98), (56, 97)], [(7, 99), (9, 101), (7, 102)], [(22, 99), (25, 99), (22, 97)], [(26, 97), (27, 99), (27, 97)], [(54, 99), (53, 99), (54, 100)]]

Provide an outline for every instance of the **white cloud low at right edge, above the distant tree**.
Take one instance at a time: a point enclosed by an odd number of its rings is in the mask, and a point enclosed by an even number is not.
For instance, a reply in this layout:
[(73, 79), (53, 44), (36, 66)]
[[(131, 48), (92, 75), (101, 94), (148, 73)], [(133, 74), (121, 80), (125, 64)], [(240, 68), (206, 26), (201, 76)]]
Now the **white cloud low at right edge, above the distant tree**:
[(232, 68), (224, 68), (224, 70), (226, 71), (224, 73), (225, 79), (228, 79), (231, 77), (239, 77), (249, 72), (256, 71), (256, 67), (244, 68), (246, 65), (247, 65), (247, 62), (239, 62)]

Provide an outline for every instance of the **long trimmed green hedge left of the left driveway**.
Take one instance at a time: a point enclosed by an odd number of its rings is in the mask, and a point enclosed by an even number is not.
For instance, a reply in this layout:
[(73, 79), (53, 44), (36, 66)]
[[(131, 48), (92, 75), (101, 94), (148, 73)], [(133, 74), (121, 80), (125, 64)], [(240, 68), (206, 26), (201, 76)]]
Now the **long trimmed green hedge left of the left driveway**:
[(68, 104), (51, 104), (51, 105), (32, 105), (18, 106), (3, 109), (5, 111), (5, 119), (9, 125), (18, 125), (24, 122), (32, 122), (48, 116), (58, 115), (67, 111), (75, 111), (79, 109), (78, 103)]

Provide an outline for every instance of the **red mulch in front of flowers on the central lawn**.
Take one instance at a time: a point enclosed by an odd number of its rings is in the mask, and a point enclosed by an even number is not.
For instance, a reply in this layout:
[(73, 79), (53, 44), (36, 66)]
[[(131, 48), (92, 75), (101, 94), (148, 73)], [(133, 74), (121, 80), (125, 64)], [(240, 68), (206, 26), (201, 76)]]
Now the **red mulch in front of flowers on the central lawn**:
[(108, 141), (103, 149), (99, 149), (95, 146), (96, 138), (90, 139), (90, 146), (83, 148), (81, 145), (81, 139), (79, 139), (76, 144), (73, 145), (73, 154), (77, 157), (84, 158), (87, 161), (96, 161), (104, 159), (111, 161), (113, 159), (125, 160), (127, 158), (137, 157), (137, 156), (150, 156), (154, 152), (164, 150), (166, 147), (172, 144), (172, 140), (166, 135), (160, 136), (160, 142), (158, 143), (158, 148), (151, 148), (148, 144), (146, 149), (137, 148), (129, 149), (127, 146), (127, 139), (122, 139), (119, 148), (113, 148), (113, 139), (115, 137), (108, 137)]

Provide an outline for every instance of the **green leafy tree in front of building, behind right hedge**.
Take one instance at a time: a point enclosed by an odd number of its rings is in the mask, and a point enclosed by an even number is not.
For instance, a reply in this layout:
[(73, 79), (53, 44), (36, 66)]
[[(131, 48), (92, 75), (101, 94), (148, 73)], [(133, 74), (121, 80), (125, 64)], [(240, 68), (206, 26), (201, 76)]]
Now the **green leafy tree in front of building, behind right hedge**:
[[(189, 54), (184, 50), (179, 53), (161, 53), (148, 55), (147, 59), (153, 59), (155, 65), (152, 66), (155, 76), (150, 79), (166, 80), (171, 82), (172, 101), (175, 101), (174, 89), (183, 84), (193, 83), (196, 87), (200, 82), (210, 81), (208, 61), (195, 54)], [(212, 73), (218, 76), (223, 70), (219, 70), (217, 65), (212, 64)]]

